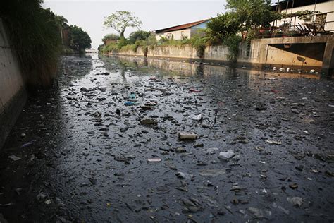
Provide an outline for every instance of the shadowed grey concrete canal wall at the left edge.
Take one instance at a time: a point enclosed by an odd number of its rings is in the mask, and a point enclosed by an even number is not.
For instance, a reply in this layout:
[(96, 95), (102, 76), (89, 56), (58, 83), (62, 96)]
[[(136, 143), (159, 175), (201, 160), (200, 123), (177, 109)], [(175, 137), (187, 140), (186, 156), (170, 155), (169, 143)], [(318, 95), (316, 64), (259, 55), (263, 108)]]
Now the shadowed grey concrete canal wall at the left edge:
[(7, 33), (0, 18), (0, 149), (27, 100), (23, 76)]

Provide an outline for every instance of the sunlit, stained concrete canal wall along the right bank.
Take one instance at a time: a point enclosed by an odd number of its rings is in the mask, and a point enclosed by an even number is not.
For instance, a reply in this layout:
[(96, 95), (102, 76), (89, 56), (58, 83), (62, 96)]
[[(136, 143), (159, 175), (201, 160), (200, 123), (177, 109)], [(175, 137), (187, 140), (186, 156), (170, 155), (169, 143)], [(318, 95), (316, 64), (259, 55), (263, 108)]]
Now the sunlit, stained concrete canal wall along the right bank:
[[(316, 37), (278, 37), (252, 40), (250, 46), (247, 43), (240, 44), (237, 64), (248, 68), (290, 68), (293, 70), (314, 69), (325, 76), (333, 76), (333, 45), (334, 36)], [(111, 54), (123, 56), (147, 56), (171, 59), (194, 59), (202, 61), (228, 62), (228, 47), (218, 45), (206, 47), (203, 58), (197, 56), (197, 51), (190, 45), (183, 46), (155, 46), (148, 47), (144, 54), (142, 47), (136, 52), (132, 50), (120, 50)], [(111, 55), (110, 54), (110, 55)]]

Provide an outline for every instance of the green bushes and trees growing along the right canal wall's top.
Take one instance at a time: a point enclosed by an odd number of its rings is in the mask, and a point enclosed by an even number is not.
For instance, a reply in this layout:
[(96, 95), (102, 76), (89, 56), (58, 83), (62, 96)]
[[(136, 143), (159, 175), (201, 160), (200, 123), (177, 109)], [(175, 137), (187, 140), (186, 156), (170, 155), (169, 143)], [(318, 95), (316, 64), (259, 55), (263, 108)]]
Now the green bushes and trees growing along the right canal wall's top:
[[(133, 41), (131, 35), (136, 35), (137, 31), (132, 32), (130, 37), (118, 37), (113, 42), (106, 42), (99, 47), (99, 52), (108, 54), (118, 52), (121, 49), (132, 49), (136, 52), (138, 47), (147, 49), (150, 46), (180, 46), (191, 45), (197, 50), (197, 56), (202, 58), (206, 46), (223, 44), (228, 47), (230, 61), (237, 59), (239, 44), (242, 41), (242, 34), (247, 33), (246, 41), (250, 42), (259, 28), (270, 26), (271, 21), (280, 18), (280, 14), (271, 11), (270, 1), (268, 0), (227, 0), (226, 13), (218, 14), (207, 24), (205, 30), (198, 30), (197, 35), (192, 35), (190, 39), (184, 37), (183, 40), (173, 40), (161, 38), (156, 40), (154, 33), (147, 37), (140, 37)], [(108, 36), (104, 37), (107, 40)]]

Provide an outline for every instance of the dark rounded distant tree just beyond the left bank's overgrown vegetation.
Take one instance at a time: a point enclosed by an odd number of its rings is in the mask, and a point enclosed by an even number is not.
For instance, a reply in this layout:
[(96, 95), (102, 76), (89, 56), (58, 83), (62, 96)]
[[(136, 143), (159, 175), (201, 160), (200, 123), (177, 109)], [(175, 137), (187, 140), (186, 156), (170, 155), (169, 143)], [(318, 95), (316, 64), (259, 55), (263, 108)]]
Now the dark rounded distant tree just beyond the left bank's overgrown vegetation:
[(70, 47), (74, 50), (82, 52), (82, 50), (91, 47), (92, 40), (90, 40), (89, 35), (77, 25), (70, 25), (70, 37)]

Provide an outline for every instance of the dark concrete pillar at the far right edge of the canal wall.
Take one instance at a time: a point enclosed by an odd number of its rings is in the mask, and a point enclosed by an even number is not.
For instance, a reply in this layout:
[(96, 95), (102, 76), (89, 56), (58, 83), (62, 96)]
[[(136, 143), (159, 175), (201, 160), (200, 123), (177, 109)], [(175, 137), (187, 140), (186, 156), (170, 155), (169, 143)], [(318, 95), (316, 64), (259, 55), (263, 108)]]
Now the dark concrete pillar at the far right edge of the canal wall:
[(334, 72), (334, 42), (327, 42), (323, 53), (323, 67), (321, 68), (321, 78), (333, 76)]

